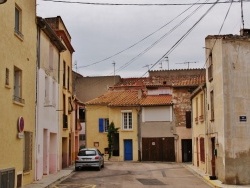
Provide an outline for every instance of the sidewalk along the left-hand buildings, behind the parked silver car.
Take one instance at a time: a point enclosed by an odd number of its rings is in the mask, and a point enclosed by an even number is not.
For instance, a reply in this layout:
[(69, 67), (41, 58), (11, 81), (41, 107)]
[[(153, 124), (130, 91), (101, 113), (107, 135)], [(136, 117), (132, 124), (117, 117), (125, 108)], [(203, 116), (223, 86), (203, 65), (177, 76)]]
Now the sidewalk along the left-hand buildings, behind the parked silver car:
[(39, 181), (34, 181), (31, 184), (25, 185), (23, 186), (23, 188), (52, 188), (53, 184), (62, 181), (63, 179), (68, 177), (73, 171), (74, 167), (62, 169), (55, 174), (44, 176), (43, 179)]

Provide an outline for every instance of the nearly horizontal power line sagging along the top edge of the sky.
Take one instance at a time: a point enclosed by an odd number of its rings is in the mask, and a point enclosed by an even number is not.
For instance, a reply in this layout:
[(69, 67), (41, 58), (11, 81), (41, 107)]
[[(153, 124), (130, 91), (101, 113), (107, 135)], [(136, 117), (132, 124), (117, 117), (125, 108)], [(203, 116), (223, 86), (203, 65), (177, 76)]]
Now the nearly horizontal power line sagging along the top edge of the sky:
[[(101, 6), (180, 6), (180, 5), (192, 5), (194, 3), (96, 3), (96, 2), (81, 2), (81, 1), (62, 1), (62, 0), (42, 0), (42, 1), (50, 1), (54, 3), (72, 3), (72, 4), (82, 4), (82, 5), (101, 5)], [(250, 2), (249, 0), (244, 0), (245, 2)], [(206, 4), (206, 5), (211, 5), (211, 4), (225, 4), (225, 3), (240, 3), (241, 0), (227, 0), (223, 2), (211, 2), (211, 3), (198, 3), (200, 4)]]

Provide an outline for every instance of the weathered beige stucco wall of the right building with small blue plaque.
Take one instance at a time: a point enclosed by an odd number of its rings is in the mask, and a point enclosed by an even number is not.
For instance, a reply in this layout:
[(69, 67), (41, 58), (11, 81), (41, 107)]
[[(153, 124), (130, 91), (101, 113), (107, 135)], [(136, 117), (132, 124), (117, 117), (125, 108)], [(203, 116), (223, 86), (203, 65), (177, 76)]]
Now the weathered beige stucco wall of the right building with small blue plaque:
[[(210, 48), (214, 41), (207, 39), (206, 47)], [(250, 41), (220, 38), (213, 52), (214, 76), (208, 83), (208, 94), (214, 90), (215, 120), (209, 131), (217, 132), (216, 175), (227, 184), (249, 184)], [(247, 117), (246, 122), (239, 121), (241, 115)]]

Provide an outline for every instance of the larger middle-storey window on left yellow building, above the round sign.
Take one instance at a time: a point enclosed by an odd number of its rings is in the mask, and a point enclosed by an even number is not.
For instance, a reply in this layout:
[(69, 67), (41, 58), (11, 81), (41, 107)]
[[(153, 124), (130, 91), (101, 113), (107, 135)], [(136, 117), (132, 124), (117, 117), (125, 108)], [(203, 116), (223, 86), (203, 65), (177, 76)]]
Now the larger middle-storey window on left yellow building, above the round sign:
[(22, 99), (22, 70), (14, 67), (14, 101), (24, 103)]

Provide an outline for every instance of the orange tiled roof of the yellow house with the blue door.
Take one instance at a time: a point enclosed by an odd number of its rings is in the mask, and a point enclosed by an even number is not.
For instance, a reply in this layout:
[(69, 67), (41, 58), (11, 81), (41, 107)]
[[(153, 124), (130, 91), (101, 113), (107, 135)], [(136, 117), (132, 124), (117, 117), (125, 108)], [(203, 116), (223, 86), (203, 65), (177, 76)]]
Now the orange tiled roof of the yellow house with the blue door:
[(88, 101), (86, 104), (98, 104), (107, 106), (136, 106), (140, 104), (141, 99), (138, 97), (136, 90), (117, 90), (108, 91), (104, 95)]

